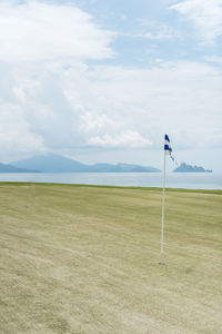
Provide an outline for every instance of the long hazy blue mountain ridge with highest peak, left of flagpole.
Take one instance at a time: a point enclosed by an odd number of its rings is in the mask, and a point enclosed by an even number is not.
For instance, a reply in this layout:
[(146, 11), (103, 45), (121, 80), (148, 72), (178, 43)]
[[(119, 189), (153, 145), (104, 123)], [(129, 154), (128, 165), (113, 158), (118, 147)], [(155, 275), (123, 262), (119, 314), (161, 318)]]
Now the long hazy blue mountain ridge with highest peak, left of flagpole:
[(79, 161), (49, 154), (13, 163), (19, 168), (39, 169), (43, 173), (155, 173), (160, 169), (130, 164), (95, 164), (85, 165)]

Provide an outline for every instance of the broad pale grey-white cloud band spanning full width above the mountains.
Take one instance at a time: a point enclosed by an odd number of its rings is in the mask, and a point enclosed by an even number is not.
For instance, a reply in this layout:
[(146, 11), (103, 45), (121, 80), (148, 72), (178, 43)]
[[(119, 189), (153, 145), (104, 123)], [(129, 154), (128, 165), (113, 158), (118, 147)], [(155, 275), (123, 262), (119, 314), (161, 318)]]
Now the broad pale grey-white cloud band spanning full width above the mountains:
[(6, 156), (10, 147), (21, 154), (31, 147), (157, 148), (165, 131), (178, 148), (222, 145), (222, 76), (211, 63), (161, 61), (147, 69), (77, 63), (38, 72), (17, 70), (8, 86), (13, 98), (0, 108)]

